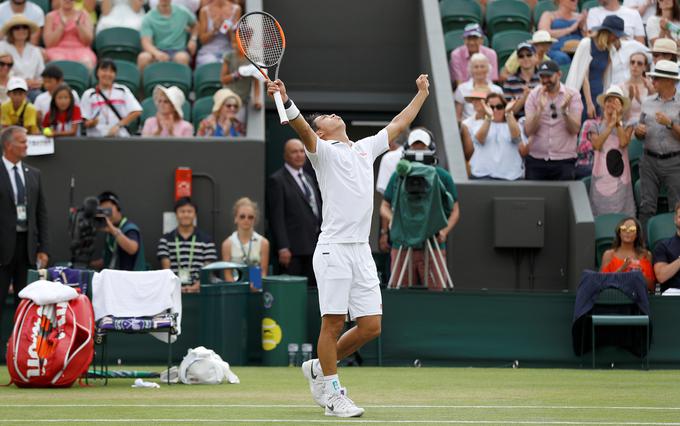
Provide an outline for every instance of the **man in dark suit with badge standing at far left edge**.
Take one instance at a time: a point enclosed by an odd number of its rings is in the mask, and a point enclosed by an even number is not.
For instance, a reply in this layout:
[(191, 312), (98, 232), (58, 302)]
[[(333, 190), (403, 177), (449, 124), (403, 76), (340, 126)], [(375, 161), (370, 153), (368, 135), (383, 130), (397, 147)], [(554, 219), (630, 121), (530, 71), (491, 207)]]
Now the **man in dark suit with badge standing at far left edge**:
[(26, 129), (0, 133), (0, 317), (10, 284), (14, 301), (26, 286), (29, 268), (47, 266), (47, 208), (40, 170), (24, 164)]

